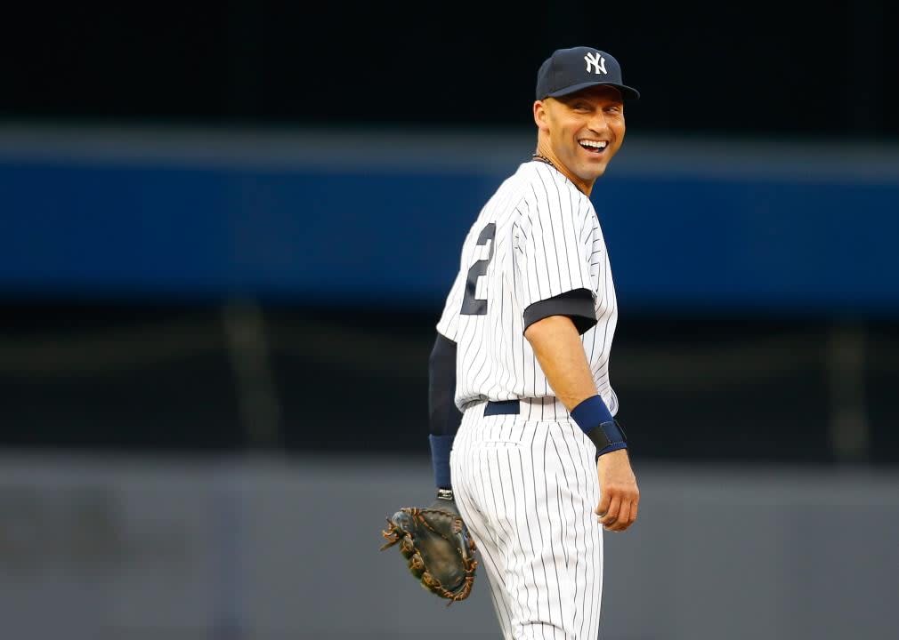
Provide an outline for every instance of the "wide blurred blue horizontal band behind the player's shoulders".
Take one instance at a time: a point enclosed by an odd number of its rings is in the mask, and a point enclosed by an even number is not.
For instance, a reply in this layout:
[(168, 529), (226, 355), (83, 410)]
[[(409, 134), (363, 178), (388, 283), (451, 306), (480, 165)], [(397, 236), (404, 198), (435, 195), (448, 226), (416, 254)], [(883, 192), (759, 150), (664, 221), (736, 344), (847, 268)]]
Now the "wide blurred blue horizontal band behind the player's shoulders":
[[(4, 161), (0, 293), (431, 307), (503, 178)], [(899, 311), (899, 184), (610, 174), (592, 197), (622, 305)]]

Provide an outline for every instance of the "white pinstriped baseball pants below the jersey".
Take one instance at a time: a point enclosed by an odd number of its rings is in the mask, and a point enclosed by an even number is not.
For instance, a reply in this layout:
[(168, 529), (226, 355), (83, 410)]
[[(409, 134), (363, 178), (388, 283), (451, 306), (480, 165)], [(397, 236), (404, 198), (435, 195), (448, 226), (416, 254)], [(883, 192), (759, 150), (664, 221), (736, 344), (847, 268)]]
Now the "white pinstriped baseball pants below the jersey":
[(594, 639), (602, 593), (595, 448), (547, 400), (522, 401), (518, 416), (485, 417), (484, 402), (468, 407), (450, 456), (453, 491), (506, 640)]

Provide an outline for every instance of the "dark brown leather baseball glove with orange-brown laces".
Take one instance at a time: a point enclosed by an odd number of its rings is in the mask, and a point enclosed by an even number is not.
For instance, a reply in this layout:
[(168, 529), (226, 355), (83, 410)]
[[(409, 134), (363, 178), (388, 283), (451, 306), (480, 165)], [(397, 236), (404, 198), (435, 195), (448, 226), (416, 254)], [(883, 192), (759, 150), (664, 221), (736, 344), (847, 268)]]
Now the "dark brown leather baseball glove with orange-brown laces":
[(399, 543), (409, 570), (424, 589), (449, 600), (465, 600), (475, 582), (475, 541), (451, 500), (438, 499), (430, 507), (405, 507), (387, 518), (381, 531), (387, 544)]

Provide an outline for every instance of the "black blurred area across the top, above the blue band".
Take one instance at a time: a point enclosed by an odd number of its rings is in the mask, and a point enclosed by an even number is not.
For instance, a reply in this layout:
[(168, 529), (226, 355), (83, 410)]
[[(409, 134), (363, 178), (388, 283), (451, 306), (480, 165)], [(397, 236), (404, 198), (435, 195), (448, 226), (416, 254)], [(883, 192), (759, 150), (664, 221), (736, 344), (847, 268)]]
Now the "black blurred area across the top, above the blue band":
[(897, 23), (883, 0), (20, 4), (0, 115), (521, 127), (539, 63), (591, 44), (644, 93), (641, 130), (895, 139)]

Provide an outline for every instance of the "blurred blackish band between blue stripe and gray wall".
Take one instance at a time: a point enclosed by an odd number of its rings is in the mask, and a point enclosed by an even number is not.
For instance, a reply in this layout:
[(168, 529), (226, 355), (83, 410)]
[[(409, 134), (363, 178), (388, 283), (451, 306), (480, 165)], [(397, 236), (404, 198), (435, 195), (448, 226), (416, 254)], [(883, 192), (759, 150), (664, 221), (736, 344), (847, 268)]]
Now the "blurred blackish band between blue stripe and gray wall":
[[(424, 460), (436, 314), (19, 304), (0, 340), (0, 442)], [(896, 465), (897, 362), (895, 323), (625, 309), (611, 371), (641, 460)]]

